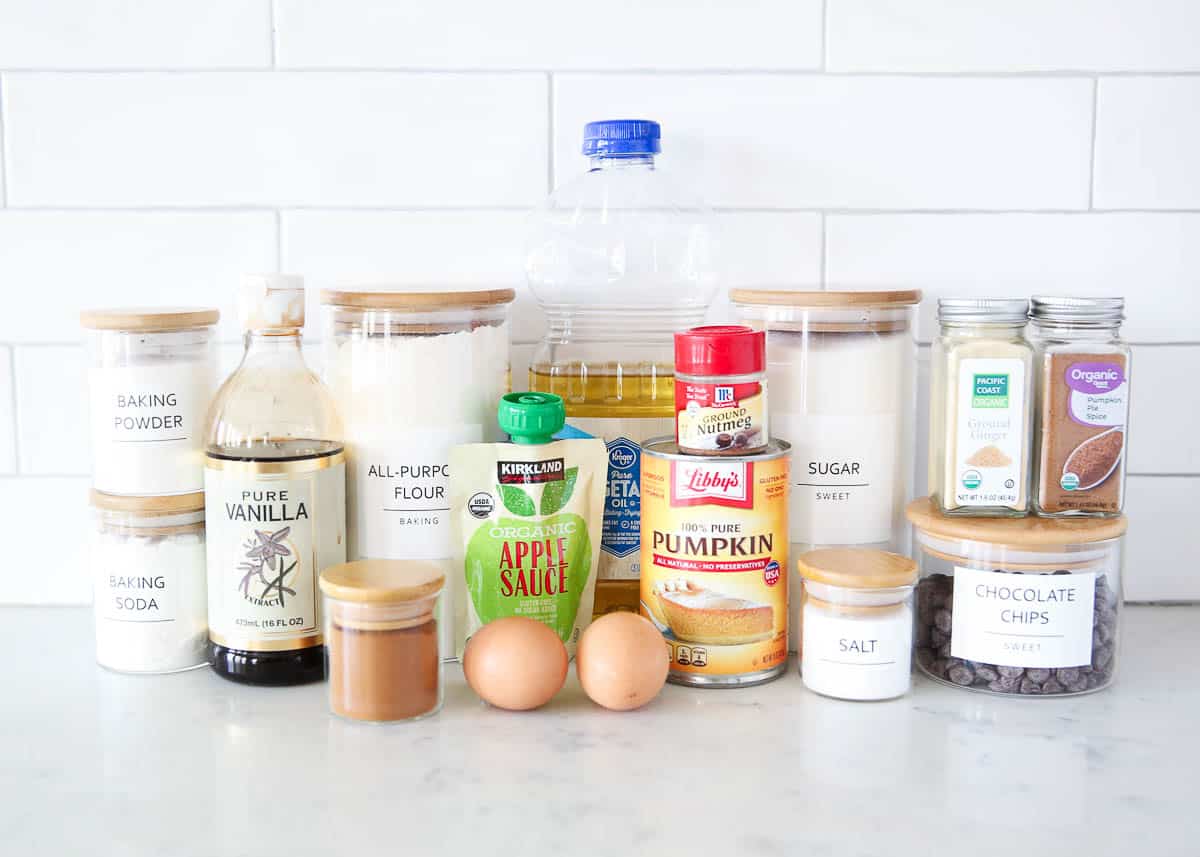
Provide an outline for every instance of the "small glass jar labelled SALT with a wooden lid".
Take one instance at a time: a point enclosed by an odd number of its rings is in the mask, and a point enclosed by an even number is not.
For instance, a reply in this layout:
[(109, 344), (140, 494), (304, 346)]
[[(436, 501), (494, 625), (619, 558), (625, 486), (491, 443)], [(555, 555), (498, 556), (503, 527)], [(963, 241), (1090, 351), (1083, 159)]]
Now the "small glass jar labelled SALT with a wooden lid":
[(800, 677), (822, 696), (890, 700), (912, 685), (917, 563), (887, 551), (826, 549), (797, 561)]

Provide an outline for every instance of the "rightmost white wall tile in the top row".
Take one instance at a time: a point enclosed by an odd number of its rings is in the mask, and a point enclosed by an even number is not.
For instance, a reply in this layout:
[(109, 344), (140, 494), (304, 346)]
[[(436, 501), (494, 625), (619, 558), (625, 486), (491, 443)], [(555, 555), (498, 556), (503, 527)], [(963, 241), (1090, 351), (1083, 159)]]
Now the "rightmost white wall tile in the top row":
[(1200, 68), (1195, 0), (828, 0), (828, 68)]

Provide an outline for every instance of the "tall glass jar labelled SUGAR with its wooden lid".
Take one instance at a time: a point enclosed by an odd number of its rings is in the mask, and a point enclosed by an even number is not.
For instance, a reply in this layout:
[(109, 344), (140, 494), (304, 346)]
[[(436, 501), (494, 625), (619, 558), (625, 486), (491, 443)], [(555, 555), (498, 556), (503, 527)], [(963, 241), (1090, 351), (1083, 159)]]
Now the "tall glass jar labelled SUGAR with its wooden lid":
[[(742, 322), (767, 331), (770, 432), (792, 444), (791, 555), (907, 553), (920, 292), (734, 289), (730, 298)], [(793, 599), (793, 651), (799, 610)]]

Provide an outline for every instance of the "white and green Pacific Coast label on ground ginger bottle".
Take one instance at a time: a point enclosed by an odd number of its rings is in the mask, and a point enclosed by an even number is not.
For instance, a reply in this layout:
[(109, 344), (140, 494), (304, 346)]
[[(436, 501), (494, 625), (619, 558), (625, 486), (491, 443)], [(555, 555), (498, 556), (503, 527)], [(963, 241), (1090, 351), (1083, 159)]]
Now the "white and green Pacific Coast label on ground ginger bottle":
[(1026, 365), (1018, 358), (959, 364), (954, 414), (954, 497), (960, 507), (1015, 505), (1027, 445)]

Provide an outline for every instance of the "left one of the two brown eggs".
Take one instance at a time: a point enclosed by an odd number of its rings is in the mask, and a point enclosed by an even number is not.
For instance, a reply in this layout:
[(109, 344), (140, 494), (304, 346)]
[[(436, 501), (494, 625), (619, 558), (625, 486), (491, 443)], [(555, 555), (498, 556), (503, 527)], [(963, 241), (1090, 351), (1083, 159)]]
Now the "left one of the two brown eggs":
[(566, 681), (566, 647), (547, 625), (524, 616), (488, 622), (467, 641), (462, 672), (497, 708), (523, 712), (550, 702)]

